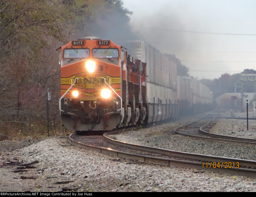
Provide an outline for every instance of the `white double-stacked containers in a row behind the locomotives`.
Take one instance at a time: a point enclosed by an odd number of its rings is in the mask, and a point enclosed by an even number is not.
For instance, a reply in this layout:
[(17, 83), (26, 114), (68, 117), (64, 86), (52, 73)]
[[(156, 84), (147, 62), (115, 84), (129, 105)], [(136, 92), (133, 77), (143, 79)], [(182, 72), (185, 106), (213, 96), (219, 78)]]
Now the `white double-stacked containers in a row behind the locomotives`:
[[(193, 76), (177, 76), (177, 66), (165, 54), (143, 40), (127, 43), (129, 53), (147, 63), (147, 96), (151, 105), (169, 98), (178, 114), (206, 112), (212, 108), (212, 92)], [(166, 102), (168, 103), (168, 102)]]

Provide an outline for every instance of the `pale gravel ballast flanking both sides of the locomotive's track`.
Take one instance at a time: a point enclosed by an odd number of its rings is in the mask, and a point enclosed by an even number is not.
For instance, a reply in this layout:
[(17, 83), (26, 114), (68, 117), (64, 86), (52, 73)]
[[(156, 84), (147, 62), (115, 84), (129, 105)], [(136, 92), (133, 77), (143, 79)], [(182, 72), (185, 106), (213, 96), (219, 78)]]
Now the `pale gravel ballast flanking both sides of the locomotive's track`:
[[(193, 118), (124, 132), (115, 137), (147, 146), (255, 160), (253, 147), (193, 140), (173, 135), (173, 132), (169, 131), (179, 124), (192, 121)], [(218, 124), (215, 128), (221, 130)], [(2, 143), (5, 142), (1, 141), (0, 145)], [(3, 164), (6, 160), (23, 160), (24, 163), (38, 160), (39, 162), (34, 164), (35, 169), (14, 173), (11, 171), (15, 167)], [(88, 192), (256, 191), (256, 179), (253, 178), (203, 171), (195, 173), (198, 170), (134, 163), (127, 159), (71, 146), (66, 137), (50, 137), (27, 147), (2, 152), (0, 163), (2, 165), (0, 191), (2, 192), (49, 192), (61, 191), (62, 188)], [(21, 176), (36, 179), (21, 179)], [(58, 184), (61, 181), (62, 184)], [(63, 183), (63, 181), (72, 182)]]

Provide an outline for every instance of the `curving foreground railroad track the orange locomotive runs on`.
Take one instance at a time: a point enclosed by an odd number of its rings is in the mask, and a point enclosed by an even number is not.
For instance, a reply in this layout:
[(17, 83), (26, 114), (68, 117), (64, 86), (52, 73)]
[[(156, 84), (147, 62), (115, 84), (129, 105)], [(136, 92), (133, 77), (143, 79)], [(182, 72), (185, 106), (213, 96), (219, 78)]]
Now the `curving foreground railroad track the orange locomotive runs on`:
[[(204, 126), (209, 128), (210, 123), (212, 124), (213, 118), (208, 118), (208, 120), (206, 119), (200, 119), (199, 121), (196, 121), (197, 123), (193, 122), (179, 128), (183, 128), (180, 130), (184, 130), (184, 128), (187, 126), (198, 127), (199, 124), (207, 121), (208, 124), (204, 124)], [(116, 132), (120, 131), (116, 130), (107, 132), (103, 136), (80, 136), (77, 134), (71, 134), (68, 140), (71, 144), (81, 148), (91, 149), (105, 154), (133, 159), (140, 162), (256, 178), (256, 161), (172, 151), (130, 144), (118, 141), (113, 137), (108, 137), (108, 135)], [(183, 133), (183, 135), (185, 134)]]

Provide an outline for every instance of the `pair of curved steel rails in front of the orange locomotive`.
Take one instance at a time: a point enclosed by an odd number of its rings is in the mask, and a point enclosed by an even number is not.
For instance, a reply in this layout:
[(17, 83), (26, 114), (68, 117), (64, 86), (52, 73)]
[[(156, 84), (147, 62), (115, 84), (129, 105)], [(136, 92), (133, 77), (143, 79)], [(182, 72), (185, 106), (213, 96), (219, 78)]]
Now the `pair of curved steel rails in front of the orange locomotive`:
[[(108, 132), (109, 133), (109, 132)], [(256, 170), (253, 169), (243, 169), (243, 168), (213, 168), (211, 167), (211, 164), (204, 163), (204, 162), (194, 162), (194, 161), (183, 161), (183, 160), (178, 160), (178, 159), (168, 159), (168, 158), (161, 158), (161, 157), (152, 157), (152, 156), (146, 156), (146, 155), (140, 155), (140, 154), (132, 154), (128, 152), (123, 152), (123, 151), (117, 151), (113, 150), (111, 148), (105, 148), (105, 147), (97, 147), (97, 146), (92, 146), (88, 144), (83, 144), (78, 141), (75, 141), (72, 139), (72, 135), (70, 134), (68, 137), (68, 141), (81, 148), (86, 148), (90, 150), (94, 150), (97, 152), (102, 152), (105, 154), (117, 156), (117, 157), (123, 157), (127, 159), (133, 159), (133, 160), (138, 160), (141, 162), (147, 162), (147, 163), (154, 163), (154, 164), (160, 164), (160, 165), (166, 165), (166, 166), (175, 166), (175, 167), (182, 167), (182, 168), (191, 168), (191, 169), (199, 169), (199, 170), (204, 170), (204, 171), (210, 171), (210, 172), (221, 172), (221, 173), (227, 173), (227, 174), (233, 174), (237, 176), (246, 176), (246, 177), (252, 177), (256, 178)], [(104, 139), (111, 139), (106, 136), (104, 136)], [(170, 155), (173, 154), (173, 156), (181, 156), (181, 154), (184, 157), (187, 158), (201, 158), (201, 160), (207, 160), (207, 161), (214, 161), (214, 162), (239, 162), (239, 165), (242, 166), (256, 166), (256, 161), (250, 161), (250, 160), (242, 160), (242, 159), (232, 159), (232, 158), (222, 158), (222, 157), (216, 157), (216, 156), (207, 156), (207, 155), (200, 155), (200, 154), (191, 154), (191, 153), (185, 153), (185, 152), (178, 152), (178, 151), (170, 151), (166, 149), (161, 149), (161, 148), (154, 148), (154, 147), (146, 147), (146, 146), (140, 146), (140, 145), (134, 145), (130, 143), (125, 143), (121, 142), (118, 140), (111, 140), (112, 143), (121, 143), (122, 146), (128, 146), (128, 147), (133, 147), (133, 148), (140, 148), (143, 150), (144, 148), (147, 149), (147, 151), (154, 151), (156, 152), (169, 152)], [(198, 157), (198, 158), (197, 158)], [(206, 159), (207, 158), (207, 159)]]

